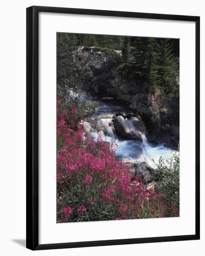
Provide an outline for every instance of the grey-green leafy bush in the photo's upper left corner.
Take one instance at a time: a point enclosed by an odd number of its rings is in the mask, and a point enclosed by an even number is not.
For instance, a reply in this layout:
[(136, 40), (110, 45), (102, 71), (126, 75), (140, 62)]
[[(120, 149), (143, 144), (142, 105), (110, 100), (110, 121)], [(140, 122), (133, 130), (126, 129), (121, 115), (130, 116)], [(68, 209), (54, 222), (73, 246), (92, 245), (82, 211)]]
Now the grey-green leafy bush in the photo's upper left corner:
[(90, 68), (78, 60), (77, 49), (75, 34), (57, 34), (57, 96), (62, 100), (79, 93), (92, 76)]

